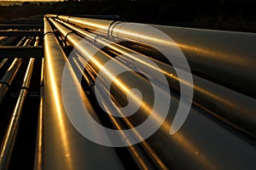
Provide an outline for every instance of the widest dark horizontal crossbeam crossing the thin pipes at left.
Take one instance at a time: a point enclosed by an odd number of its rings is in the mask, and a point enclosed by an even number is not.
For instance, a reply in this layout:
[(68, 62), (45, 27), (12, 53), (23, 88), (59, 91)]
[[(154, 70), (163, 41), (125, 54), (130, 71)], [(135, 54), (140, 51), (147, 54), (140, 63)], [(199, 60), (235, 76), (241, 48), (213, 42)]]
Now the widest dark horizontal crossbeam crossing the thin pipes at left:
[(0, 46), (0, 59), (4, 58), (43, 58), (43, 47)]

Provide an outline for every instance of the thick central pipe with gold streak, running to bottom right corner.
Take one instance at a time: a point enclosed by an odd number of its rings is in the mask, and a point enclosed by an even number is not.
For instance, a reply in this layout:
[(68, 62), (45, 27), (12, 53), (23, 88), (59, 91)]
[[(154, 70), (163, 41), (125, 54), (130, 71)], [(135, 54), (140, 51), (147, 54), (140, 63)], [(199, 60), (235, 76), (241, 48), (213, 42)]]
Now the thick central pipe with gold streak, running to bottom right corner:
[[(69, 44), (78, 48), (76, 51), (83, 56), (85, 62), (91, 65), (96, 72), (111, 59), (107, 54), (98, 52), (91, 54), (86, 42), (80, 42), (81, 38), (75, 36), (71, 31), (61, 26), (56, 21), (51, 20), (54, 26), (66, 37)], [(84, 45), (83, 45), (84, 44)], [(85, 45), (86, 44), (86, 45)], [(127, 76), (127, 75), (125, 75)], [(134, 77), (119, 77), (119, 81), (124, 82), (125, 87), (137, 85), (147, 102), (147, 94), (144, 96), (143, 90), (146, 90), (147, 83), (135, 82)], [(129, 75), (130, 76), (130, 75)], [(108, 77), (104, 77), (108, 78)], [(136, 79), (137, 81), (138, 79)], [(114, 82), (113, 82), (114, 83)], [(140, 87), (141, 86), (141, 87)], [(127, 94), (120, 89), (120, 97), (117, 100), (125, 98)], [(148, 91), (146, 92), (148, 93)], [(115, 94), (113, 94), (115, 95)], [(123, 96), (123, 97), (122, 97)], [(144, 101), (143, 101), (144, 102)], [(256, 149), (253, 146), (254, 141), (250, 141), (246, 136), (242, 136), (230, 127), (226, 127), (218, 120), (212, 119), (204, 111), (192, 107), (186, 122), (181, 129), (173, 134), (169, 134), (174, 113), (177, 111), (179, 101), (176, 96), (172, 96), (172, 105), (166, 122), (149, 139), (148, 144), (160, 153), (160, 159), (166, 163), (169, 168), (176, 169), (244, 169), (255, 166)], [(111, 108), (119, 111), (119, 108)], [(119, 112), (122, 114), (122, 112)], [(150, 114), (147, 111), (140, 111), (136, 116), (129, 117), (133, 124), (137, 125), (145, 120)]]

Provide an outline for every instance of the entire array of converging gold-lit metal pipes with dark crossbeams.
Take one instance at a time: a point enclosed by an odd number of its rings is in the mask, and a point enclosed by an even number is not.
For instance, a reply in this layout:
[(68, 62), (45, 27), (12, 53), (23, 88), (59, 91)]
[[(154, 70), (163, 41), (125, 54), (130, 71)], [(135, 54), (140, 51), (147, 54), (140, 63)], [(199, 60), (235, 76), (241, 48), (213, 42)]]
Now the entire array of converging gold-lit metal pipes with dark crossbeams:
[[(2, 23), (0, 169), (256, 167), (255, 33), (143, 25), (117, 15)], [(192, 74), (170, 54), (176, 46)], [(180, 105), (191, 108), (172, 134)]]

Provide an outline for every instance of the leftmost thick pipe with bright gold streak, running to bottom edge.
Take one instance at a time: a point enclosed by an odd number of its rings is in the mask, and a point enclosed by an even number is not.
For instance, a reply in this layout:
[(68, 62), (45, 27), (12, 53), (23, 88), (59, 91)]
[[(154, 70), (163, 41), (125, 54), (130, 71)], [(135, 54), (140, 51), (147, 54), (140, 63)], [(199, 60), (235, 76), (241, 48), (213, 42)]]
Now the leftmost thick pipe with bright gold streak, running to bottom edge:
[[(61, 96), (61, 77), (64, 66), (68, 72), (67, 57), (57, 42), (49, 21), (44, 18), (44, 59), (45, 59), (45, 86), (44, 86), (44, 150), (43, 169), (124, 169), (119, 157), (113, 148), (95, 144), (85, 139), (67, 118), (67, 113)], [(70, 80), (77, 84), (77, 79)], [(79, 86), (74, 90), (83, 96), (84, 105), (91, 108), (85, 94)], [(70, 100), (71, 103), (76, 101)], [(90, 112), (97, 119), (96, 113)], [(97, 134), (96, 129), (95, 134)], [(99, 137), (100, 138), (100, 137)]]

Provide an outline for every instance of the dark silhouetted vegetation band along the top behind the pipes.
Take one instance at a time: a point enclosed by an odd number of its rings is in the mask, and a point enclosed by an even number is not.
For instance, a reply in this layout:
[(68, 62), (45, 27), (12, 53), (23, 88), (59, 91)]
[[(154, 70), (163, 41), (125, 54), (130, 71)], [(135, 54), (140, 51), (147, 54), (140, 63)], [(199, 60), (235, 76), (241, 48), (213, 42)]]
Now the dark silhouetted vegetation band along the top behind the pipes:
[(128, 21), (256, 32), (255, 0), (84, 0), (0, 6), (0, 20), (36, 14), (119, 14)]

